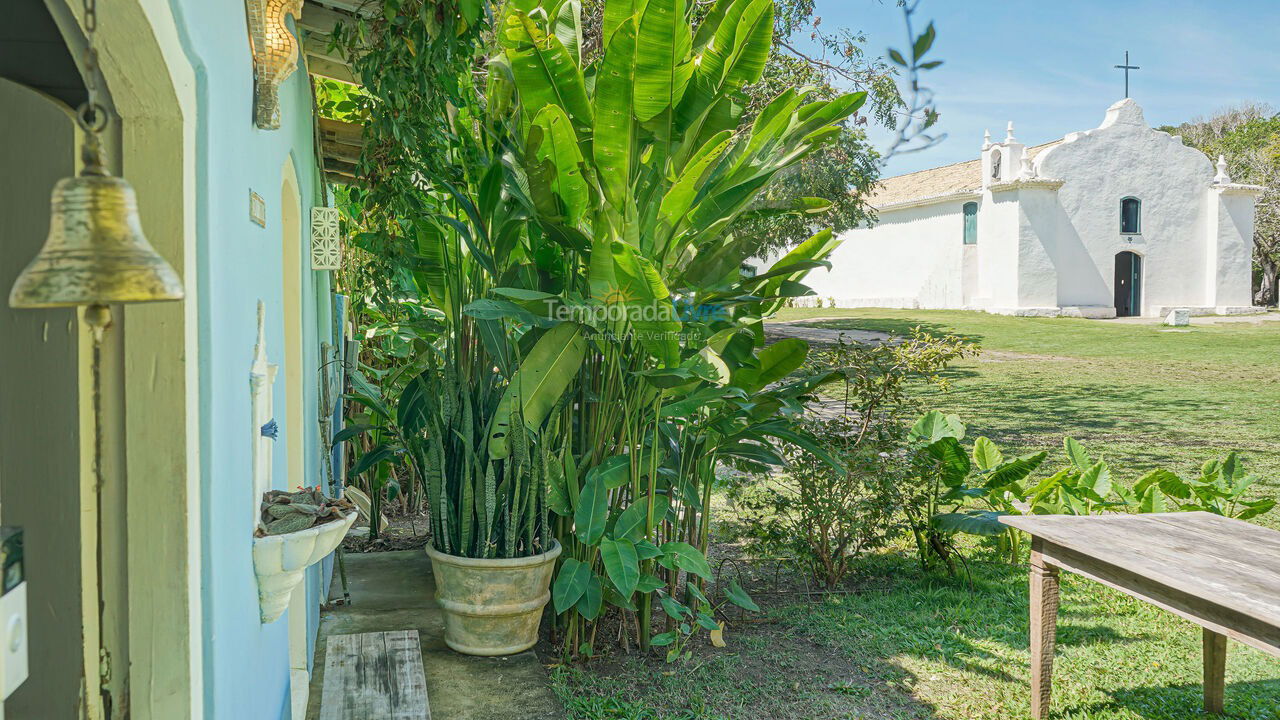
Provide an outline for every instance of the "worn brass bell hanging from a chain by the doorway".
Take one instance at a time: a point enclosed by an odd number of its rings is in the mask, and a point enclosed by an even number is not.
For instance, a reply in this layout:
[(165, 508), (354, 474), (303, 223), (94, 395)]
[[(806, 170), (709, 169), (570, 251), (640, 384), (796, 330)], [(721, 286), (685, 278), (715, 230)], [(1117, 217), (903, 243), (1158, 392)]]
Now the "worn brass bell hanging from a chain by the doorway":
[(182, 300), (182, 279), (142, 234), (138, 202), (102, 168), (96, 137), (78, 177), (54, 186), (49, 237), (9, 292), (13, 307)]

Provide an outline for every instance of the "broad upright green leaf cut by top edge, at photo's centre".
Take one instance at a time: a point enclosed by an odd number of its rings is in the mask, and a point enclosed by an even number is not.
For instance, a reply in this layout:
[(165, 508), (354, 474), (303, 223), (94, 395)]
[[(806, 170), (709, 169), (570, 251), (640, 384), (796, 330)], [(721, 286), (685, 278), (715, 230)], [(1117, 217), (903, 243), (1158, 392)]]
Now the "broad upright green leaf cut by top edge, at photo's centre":
[(648, 122), (675, 109), (685, 95), (694, 65), (694, 37), (685, 19), (685, 0), (649, 0), (636, 29), (635, 117)]

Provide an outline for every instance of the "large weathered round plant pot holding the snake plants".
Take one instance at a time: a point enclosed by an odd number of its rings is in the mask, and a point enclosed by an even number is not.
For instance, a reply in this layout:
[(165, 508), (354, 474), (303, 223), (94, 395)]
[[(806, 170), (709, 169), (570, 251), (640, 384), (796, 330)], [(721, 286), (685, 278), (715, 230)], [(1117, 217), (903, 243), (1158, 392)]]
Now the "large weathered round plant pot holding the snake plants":
[(532, 557), (480, 560), (426, 546), (444, 643), (463, 655), (513, 655), (534, 647), (561, 546)]

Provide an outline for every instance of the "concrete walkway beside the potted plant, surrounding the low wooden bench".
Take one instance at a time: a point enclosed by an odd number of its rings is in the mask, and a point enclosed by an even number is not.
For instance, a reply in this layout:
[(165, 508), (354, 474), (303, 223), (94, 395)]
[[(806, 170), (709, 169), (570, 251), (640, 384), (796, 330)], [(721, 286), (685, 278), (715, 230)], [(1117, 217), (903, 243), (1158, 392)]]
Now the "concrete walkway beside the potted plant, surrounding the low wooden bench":
[[(564, 716), (548, 687), (547, 670), (532, 651), (511, 657), (468, 657), (445, 647), (431, 561), (424, 551), (352, 552), (346, 560), (351, 605), (320, 614), (308, 720), (320, 717), (326, 638), (379, 630), (419, 632), (434, 719), (561, 720)], [(337, 570), (329, 596), (342, 597)]]

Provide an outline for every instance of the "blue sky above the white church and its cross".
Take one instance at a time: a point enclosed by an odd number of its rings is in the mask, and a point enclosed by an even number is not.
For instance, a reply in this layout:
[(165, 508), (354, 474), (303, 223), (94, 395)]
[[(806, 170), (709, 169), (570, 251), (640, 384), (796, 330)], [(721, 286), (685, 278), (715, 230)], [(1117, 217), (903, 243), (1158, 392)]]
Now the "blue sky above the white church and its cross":
[[(822, 27), (867, 35), (869, 54), (904, 49), (902, 13), (893, 0), (817, 0)], [(978, 156), (984, 128), (1005, 136), (1014, 120), (1028, 145), (1097, 127), (1130, 96), (1156, 127), (1176, 124), (1243, 100), (1280, 106), (1280, 0), (923, 0), (920, 29), (933, 19), (925, 73), (937, 94), (941, 145), (890, 160), (884, 176)], [(883, 146), (888, 135), (873, 133)]]

